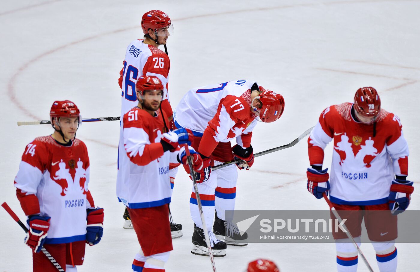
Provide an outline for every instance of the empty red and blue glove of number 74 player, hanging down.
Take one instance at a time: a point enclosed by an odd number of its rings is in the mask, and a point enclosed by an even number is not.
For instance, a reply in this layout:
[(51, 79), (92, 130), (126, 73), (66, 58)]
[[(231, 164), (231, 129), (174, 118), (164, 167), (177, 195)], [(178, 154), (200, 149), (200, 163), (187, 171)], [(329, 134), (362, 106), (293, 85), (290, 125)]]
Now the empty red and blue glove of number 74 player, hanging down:
[(101, 241), (103, 233), (104, 209), (87, 209), (86, 244), (96, 245)]

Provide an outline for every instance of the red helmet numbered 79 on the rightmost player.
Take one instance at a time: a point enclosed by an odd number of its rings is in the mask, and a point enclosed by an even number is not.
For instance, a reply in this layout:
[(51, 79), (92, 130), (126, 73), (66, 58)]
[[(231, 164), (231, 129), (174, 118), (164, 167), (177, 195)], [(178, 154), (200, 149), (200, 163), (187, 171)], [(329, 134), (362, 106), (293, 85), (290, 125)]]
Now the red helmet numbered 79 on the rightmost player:
[(381, 98), (373, 87), (363, 87), (354, 95), (354, 108), (363, 116), (371, 117), (379, 114)]

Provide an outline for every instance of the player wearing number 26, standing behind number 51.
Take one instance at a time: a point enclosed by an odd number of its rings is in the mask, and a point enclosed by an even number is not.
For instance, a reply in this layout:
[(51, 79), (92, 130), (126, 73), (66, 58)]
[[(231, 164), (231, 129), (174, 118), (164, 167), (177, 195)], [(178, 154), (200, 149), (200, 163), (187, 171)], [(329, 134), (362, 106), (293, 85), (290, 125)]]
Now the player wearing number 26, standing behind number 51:
[[(120, 71), (118, 84), (121, 88), (121, 120), (124, 114), (137, 105), (135, 85), (137, 78), (142, 75), (156, 76), (163, 84), (163, 101), (161, 109), (169, 119), (169, 128), (173, 129), (172, 108), (169, 104), (168, 75), (171, 67), (169, 57), (160, 50), (160, 45), (165, 45), (166, 40), (173, 34), (171, 18), (160, 10), (150, 10), (142, 16), (142, 30), (144, 39), (135, 39), (126, 49), (123, 69)], [(120, 142), (118, 155), (124, 153), (122, 145), (122, 126), (120, 128)], [(178, 171), (176, 166), (170, 166), (171, 186), (173, 189), (174, 177)], [(171, 214), (171, 213), (170, 213)], [(130, 222), (129, 212), (126, 209), (123, 215), (123, 228), (133, 228)], [(182, 225), (173, 223), (171, 220), (172, 237), (182, 236)]]

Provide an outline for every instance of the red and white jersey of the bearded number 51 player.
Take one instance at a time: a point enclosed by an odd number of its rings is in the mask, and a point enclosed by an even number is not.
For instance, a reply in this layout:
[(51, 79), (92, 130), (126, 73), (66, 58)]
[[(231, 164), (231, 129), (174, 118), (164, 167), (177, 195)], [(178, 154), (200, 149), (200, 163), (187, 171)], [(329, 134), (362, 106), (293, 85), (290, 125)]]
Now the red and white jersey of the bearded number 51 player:
[[(117, 197), (131, 209), (161, 206), (171, 202), (169, 163), (178, 163), (179, 151), (163, 152), (165, 114), (135, 107), (123, 117), (123, 148), (120, 147)], [(122, 151), (123, 150), (123, 151)]]

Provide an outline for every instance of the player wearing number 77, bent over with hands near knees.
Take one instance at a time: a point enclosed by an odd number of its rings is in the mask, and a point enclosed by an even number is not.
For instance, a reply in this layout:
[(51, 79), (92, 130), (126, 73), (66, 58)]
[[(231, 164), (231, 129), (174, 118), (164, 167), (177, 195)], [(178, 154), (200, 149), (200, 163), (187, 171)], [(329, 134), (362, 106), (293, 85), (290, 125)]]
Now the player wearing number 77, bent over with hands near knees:
[[(226, 243), (246, 245), (233, 218), (225, 218), (226, 210), (234, 210), (236, 197), (236, 167), (228, 166), (211, 173), (211, 166), (223, 161), (240, 158), (238, 167), (249, 169), (254, 162), (251, 146), (252, 130), (257, 120), (273, 122), (280, 118), (284, 109), (284, 99), (280, 94), (265, 90), (255, 81), (236, 80), (217, 85), (194, 88), (181, 99), (174, 111), (175, 126), (192, 130), (192, 146), (198, 150), (204, 167), (198, 171), (198, 190), (202, 202), (207, 230), (209, 230), (213, 255), (226, 255)], [(236, 138), (231, 148), (230, 141)], [(232, 155), (233, 153), (233, 155)], [(186, 168), (189, 172), (189, 169)], [(213, 225), (213, 216), (217, 216)], [(194, 188), (190, 198), (191, 217), (195, 223), (191, 252), (208, 255), (204, 231), (197, 207)], [(223, 236), (225, 242), (215, 237)], [(242, 241), (241, 241), (242, 240)]]

